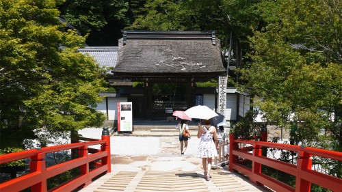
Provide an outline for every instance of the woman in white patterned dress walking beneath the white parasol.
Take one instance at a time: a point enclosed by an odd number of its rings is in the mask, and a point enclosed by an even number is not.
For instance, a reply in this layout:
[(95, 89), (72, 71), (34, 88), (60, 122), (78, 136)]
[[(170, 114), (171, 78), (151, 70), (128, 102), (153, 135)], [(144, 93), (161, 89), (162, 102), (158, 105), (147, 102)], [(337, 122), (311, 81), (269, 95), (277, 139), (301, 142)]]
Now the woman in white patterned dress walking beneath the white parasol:
[(200, 138), (198, 157), (202, 158), (203, 170), (205, 172), (204, 178), (209, 181), (211, 178), (209, 173), (213, 157), (218, 156), (218, 135), (216, 128), (210, 124), (211, 120), (202, 120), (202, 122), (204, 123), (203, 126), (198, 123), (197, 137), (198, 139)]

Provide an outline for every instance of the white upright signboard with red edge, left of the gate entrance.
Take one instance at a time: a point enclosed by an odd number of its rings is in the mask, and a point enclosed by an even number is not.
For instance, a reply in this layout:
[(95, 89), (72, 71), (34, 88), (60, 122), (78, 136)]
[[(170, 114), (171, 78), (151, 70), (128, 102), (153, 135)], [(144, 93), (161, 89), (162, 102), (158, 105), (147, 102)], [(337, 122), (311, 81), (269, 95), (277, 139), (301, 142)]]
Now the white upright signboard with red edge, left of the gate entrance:
[(132, 102), (118, 102), (118, 132), (132, 131)]

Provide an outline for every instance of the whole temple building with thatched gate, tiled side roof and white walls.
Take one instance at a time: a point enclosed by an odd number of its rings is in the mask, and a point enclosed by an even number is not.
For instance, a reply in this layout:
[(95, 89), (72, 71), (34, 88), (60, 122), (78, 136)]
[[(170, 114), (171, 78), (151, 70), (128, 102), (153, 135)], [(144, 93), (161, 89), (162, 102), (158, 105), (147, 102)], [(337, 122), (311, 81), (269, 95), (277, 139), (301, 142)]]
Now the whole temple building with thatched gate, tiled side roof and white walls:
[[(132, 102), (133, 120), (166, 120), (172, 111), (195, 105), (218, 111), (219, 87), (197, 86), (226, 75), (215, 31), (122, 32), (118, 47), (79, 49), (112, 68), (108, 81), (115, 91), (101, 93), (105, 98), (97, 107), (107, 120), (117, 120), (117, 102)], [(235, 87), (225, 90), (226, 120), (235, 121), (248, 111), (249, 97)]]

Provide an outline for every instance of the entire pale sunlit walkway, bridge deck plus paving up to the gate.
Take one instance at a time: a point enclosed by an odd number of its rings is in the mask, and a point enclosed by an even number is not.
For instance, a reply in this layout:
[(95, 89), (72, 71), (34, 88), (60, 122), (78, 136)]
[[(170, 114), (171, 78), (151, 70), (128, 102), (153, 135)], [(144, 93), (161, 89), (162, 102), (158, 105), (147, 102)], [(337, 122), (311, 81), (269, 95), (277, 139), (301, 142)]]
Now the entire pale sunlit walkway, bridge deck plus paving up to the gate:
[[(79, 133), (99, 139), (101, 130), (89, 128)], [(80, 192), (269, 191), (244, 176), (228, 172), (227, 166), (212, 169), (211, 181), (204, 180), (202, 159), (196, 156), (200, 139), (195, 137), (189, 139), (185, 154), (181, 154), (178, 136), (112, 136), (111, 173)]]

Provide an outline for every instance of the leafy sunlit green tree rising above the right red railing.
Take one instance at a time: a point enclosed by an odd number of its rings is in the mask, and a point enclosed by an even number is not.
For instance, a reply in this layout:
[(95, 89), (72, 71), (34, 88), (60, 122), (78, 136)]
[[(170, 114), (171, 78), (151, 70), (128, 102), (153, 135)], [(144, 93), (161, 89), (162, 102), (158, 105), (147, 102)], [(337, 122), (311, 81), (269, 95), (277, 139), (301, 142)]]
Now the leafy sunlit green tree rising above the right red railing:
[(267, 25), (250, 38), (252, 64), (241, 70), (248, 82), (241, 88), (260, 98), (255, 104), (268, 122), (296, 122), (302, 143), (339, 151), (341, 9), (328, 0), (259, 3)]

